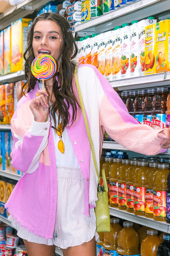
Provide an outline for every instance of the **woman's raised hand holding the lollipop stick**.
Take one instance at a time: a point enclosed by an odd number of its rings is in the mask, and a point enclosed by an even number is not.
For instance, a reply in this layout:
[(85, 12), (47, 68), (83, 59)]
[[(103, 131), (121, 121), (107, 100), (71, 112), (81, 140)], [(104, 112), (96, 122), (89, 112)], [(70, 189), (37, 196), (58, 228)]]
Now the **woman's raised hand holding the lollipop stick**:
[(37, 97), (31, 100), (29, 107), (34, 115), (35, 121), (46, 122), (49, 112), (47, 91), (45, 89), (38, 90)]

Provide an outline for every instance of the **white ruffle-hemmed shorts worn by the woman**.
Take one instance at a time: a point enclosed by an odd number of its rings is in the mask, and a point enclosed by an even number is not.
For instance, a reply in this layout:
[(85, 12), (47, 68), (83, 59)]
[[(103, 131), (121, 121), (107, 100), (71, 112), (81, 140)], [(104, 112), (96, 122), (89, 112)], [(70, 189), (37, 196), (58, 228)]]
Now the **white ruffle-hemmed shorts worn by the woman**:
[(10, 215), (8, 219), (18, 231), (17, 235), (29, 242), (56, 245), (61, 249), (89, 242), (94, 236), (98, 241), (94, 208), (90, 209), (90, 217), (83, 214), (85, 181), (81, 169), (57, 167), (57, 180), (57, 218), (53, 238), (45, 239), (34, 235), (20, 226)]

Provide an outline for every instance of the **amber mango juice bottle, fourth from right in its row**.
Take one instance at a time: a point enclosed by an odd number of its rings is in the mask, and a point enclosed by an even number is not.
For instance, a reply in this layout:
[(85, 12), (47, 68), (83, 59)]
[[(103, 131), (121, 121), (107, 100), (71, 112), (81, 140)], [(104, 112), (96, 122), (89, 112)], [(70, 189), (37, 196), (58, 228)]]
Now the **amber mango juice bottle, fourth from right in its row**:
[(134, 185), (134, 172), (136, 170), (136, 166), (138, 165), (138, 160), (130, 160), (130, 167), (127, 171), (127, 178), (126, 178), (126, 210), (128, 213), (133, 213), (133, 185)]

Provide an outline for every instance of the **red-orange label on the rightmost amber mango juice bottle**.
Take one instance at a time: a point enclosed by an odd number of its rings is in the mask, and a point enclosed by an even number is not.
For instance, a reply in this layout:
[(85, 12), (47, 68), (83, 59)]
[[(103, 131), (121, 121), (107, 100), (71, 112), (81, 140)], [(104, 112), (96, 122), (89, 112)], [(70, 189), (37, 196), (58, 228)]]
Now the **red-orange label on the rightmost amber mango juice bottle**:
[(153, 190), (153, 215), (166, 217), (166, 191)]

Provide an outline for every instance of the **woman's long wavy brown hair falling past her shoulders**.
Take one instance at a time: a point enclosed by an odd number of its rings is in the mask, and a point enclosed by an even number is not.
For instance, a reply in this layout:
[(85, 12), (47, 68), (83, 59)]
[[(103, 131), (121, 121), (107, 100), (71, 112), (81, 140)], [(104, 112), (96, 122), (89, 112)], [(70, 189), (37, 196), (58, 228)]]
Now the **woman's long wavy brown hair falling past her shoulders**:
[[(53, 77), (53, 94), (57, 99), (50, 108), (51, 115), (56, 126), (56, 113), (58, 120), (61, 122), (61, 128), (64, 129), (69, 121), (70, 125), (76, 120), (76, 114), (79, 107), (78, 101), (73, 92), (72, 78), (74, 75), (75, 64), (72, 59), (76, 56), (78, 49), (74, 41), (74, 37), (69, 27), (69, 23), (59, 14), (44, 13), (36, 17), (31, 25), (27, 36), (27, 49), (24, 53), (25, 58), (25, 78), (27, 80), (27, 92), (34, 89), (37, 79), (31, 73), (31, 63), (34, 60), (34, 52), (32, 48), (34, 27), (38, 21), (51, 20), (55, 21), (63, 34), (63, 47), (61, 50), (62, 61), (59, 71)], [(57, 78), (57, 79), (56, 79)], [(24, 88), (25, 89), (25, 88)], [(72, 119), (70, 119), (69, 108), (72, 109)]]

